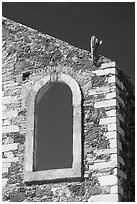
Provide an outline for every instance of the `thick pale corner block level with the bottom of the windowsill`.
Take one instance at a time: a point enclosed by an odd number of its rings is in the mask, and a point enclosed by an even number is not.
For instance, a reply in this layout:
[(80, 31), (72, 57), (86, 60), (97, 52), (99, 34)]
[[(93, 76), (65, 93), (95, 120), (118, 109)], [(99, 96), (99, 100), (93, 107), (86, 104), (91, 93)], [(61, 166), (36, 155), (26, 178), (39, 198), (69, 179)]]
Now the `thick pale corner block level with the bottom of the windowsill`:
[(118, 178), (114, 175), (101, 176), (98, 177), (98, 180), (101, 186), (115, 185), (118, 183)]

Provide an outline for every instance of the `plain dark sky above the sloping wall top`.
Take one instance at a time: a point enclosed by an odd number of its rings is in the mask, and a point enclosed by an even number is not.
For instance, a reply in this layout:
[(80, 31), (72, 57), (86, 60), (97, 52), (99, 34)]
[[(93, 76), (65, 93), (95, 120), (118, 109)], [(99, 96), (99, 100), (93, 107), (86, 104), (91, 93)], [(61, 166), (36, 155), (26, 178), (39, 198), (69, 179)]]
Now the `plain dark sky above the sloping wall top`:
[(95, 35), (134, 84), (134, 2), (3, 2), (2, 15), (88, 51)]

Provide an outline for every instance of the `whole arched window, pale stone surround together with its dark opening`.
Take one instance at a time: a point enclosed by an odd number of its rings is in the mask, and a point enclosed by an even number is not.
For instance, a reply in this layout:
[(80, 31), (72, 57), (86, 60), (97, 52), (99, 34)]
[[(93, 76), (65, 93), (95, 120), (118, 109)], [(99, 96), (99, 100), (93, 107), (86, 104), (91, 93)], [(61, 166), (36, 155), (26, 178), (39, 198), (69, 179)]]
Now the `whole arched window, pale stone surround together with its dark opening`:
[(24, 181), (81, 177), (81, 92), (65, 74), (46, 76), (27, 97)]

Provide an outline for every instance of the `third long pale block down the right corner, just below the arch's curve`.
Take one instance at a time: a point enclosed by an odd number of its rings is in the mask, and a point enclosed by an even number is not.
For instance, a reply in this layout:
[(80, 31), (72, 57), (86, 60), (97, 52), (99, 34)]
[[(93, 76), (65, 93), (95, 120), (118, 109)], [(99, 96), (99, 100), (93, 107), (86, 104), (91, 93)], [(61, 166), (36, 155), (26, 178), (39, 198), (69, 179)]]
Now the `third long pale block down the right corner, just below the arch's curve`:
[(98, 101), (98, 102), (95, 102), (94, 104), (94, 108), (103, 108), (103, 107), (111, 107), (111, 106), (119, 107), (116, 99)]

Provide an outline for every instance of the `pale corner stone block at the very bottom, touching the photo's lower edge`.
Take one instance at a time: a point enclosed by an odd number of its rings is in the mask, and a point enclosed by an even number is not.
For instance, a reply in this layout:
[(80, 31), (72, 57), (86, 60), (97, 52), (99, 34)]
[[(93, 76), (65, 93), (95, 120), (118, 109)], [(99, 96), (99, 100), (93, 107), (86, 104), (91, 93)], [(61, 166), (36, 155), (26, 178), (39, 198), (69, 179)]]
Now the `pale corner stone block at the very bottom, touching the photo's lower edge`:
[(118, 194), (94, 195), (88, 199), (88, 202), (118, 202)]

